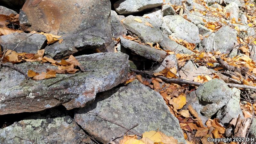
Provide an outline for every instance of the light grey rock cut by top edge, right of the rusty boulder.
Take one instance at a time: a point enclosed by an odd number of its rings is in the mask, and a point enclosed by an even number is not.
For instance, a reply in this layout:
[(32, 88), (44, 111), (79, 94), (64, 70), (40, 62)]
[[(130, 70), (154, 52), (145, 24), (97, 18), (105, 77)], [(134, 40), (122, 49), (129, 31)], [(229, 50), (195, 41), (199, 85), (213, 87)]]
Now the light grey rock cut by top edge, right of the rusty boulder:
[(141, 12), (146, 9), (155, 8), (163, 4), (162, 0), (119, 0), (114, 4), (116, 12), (119, 14), (131, 14)]

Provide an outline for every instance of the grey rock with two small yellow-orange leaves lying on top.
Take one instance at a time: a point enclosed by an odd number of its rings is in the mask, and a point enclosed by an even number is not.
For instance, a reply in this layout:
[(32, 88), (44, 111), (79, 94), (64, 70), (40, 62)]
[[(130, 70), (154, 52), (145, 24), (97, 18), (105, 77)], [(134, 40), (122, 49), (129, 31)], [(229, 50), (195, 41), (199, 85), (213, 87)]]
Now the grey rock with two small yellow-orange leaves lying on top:
[[(142, 22), (140, 23), (134, 19), (140, 19)], [(153, 28), (146, 25), (146, 22), (150, 23)], [(128, 30), (128, 34), (138, 36), (142, 42), (155, 44), (163, 39), (161, 29), (151, 19), (129, 15), (123, 23)]]

